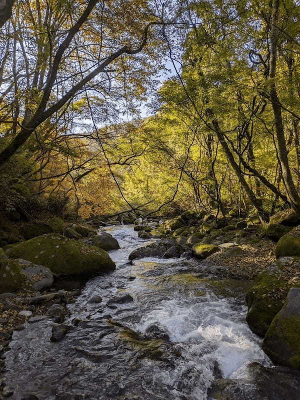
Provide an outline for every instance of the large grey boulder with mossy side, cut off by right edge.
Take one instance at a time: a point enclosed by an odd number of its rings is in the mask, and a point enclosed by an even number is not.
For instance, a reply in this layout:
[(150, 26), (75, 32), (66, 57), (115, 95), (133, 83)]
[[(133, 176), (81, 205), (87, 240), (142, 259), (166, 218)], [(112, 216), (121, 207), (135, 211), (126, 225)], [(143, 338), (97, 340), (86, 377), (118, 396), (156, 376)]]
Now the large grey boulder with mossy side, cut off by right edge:
[(265, 334), (263, 350), (275, 363), (300, 369), (300, 288), (289, 290)]

